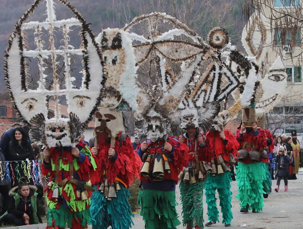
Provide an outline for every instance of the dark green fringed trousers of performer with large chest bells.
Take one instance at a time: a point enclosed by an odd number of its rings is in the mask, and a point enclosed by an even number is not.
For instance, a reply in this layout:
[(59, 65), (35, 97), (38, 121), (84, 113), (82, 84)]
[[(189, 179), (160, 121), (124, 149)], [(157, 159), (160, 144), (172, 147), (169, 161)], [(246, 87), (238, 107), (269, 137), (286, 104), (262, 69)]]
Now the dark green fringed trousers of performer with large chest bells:
[(141, 190), (138, 206), (141, 207), (140, 215), (145, 221), (145, 229), (176, 228), (180, 224), (175, 191)]

